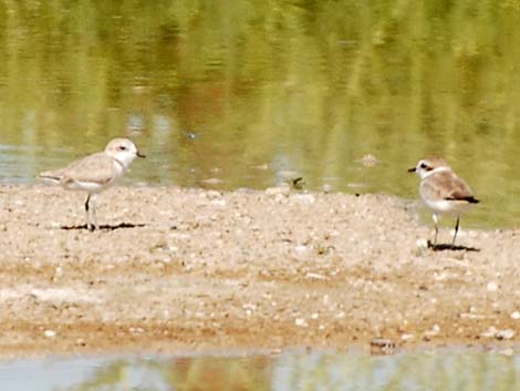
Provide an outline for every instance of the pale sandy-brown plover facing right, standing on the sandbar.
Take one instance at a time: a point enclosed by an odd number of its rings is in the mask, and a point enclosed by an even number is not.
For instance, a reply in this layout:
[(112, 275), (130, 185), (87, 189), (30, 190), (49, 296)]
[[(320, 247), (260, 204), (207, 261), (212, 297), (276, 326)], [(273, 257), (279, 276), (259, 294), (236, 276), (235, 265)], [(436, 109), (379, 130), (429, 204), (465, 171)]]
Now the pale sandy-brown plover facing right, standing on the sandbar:
[(94, 230), (98, 228), (95, 216), (98, 194), (121, 178), (136, 156), (146, 157), (129, 140), (114, 138), (104, 152), (89, 155), (64, 168), (43, 172), (39, 176), (67, 191), (89, 193), (85, 202), (86, 228)]

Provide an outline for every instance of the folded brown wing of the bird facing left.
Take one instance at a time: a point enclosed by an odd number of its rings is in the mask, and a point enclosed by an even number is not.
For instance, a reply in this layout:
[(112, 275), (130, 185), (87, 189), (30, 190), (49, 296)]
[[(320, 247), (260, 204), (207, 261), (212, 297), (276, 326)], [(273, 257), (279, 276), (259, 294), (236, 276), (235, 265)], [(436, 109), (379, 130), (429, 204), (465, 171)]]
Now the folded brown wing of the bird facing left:
[(423, 181), (420, 193), (430, 199), (476, 200), (471, 188), (451, 171), (435, 173)]

